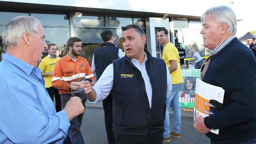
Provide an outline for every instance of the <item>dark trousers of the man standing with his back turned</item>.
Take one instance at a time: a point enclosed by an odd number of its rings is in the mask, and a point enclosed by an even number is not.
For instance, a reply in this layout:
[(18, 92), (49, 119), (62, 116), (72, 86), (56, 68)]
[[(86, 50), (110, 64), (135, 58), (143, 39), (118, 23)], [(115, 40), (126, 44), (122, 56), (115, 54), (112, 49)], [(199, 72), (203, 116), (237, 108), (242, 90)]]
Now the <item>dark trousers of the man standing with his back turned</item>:
[(102, 101), (104, 108), (104, 116), (105, 116), (105, 126), (107, 132), (107, 138), (109, 144), (115, 144), (115, 139), (113, 135), (113, 97), (111, 94)]

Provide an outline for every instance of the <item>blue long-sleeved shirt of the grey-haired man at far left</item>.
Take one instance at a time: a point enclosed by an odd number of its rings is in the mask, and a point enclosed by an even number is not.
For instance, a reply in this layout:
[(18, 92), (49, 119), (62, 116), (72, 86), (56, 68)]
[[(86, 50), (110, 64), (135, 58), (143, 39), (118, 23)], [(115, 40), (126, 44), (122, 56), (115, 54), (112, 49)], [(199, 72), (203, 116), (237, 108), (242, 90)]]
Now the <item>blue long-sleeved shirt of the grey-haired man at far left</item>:
[(67, 113), (56, 113), (41, 70), (4, 54), (0, 62), (0, 143), (60, 143), (67, 137)]

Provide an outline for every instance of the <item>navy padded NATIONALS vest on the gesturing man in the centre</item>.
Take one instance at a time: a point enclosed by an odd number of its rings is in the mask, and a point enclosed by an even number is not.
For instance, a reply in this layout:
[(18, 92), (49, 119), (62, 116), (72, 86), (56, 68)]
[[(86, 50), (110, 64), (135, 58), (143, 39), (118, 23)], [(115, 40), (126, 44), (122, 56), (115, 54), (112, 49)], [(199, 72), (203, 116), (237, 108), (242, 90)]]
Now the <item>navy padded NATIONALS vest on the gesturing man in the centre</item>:
[(152, 85), (151, 109), (141, 72), (128, 57), (113, 61), (113, 131), (123, 135), (151, 135), (163, 131), (167, 93), (166, 65), (147, 50), (145, 63)]

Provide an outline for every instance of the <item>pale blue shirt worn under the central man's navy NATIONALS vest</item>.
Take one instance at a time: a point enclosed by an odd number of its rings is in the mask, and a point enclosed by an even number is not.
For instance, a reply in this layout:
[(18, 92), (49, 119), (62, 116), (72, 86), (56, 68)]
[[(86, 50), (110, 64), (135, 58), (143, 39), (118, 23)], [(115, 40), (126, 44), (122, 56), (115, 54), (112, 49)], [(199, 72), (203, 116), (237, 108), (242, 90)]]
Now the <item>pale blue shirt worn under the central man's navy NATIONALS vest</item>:
[[(148, 60), (148, 58), (147, 58), (147, 54), (145, 52), (144, 52), (144, 54), (145, 54), (145, 59), (141, 64), (136, 59), (131, 59), (131, 61), (139, 69), (139, 71), (141, 72), (141, 75), (145, 81), (148, 102), (149, 102), (149, 106), (151, 108), (152, 86), (151, 86), (150, 79), (149, 79), (149, 76), (148, 76), (148, 73), (146, 70), (146, 66), (145, 66), (145, 63)], [(166, 66), (166, 72), (167, 72), (167, 94), (166, 94), (166, 96), (169, 97), (172, 92), (172, 82), (171, 82), (171, 75), (169, 74), (169, 69), (167, 68), (167, 66)], [(107, 96), (109, 95), (109, 93), (113, 87), (113, 79), (114, 79), (113, 73), (114, 73), (113, 72), (113, 64), (110, 64), (104, 70), (103, 74), (100, 76), (100, 79), (98, 79), (95, 86), (93, 87), (93, 89), (95, 89), (95, 92), (96, 92), (96, 100), (92, 103), (96, 103), (96, 102), (102, 101), (105, 98), (107, 98)], [(91, 102), (90, 100), (88, 100), (88, 101)]]

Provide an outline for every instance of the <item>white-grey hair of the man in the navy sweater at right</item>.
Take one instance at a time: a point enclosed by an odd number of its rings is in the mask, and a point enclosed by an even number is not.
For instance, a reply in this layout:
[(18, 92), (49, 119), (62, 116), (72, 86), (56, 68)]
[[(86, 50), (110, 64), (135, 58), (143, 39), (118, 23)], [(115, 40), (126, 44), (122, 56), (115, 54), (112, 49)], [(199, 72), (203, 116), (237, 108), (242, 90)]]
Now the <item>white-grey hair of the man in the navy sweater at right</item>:
[(201, 21), (203, 21), (206, 17), (213, 18), (219, 24), (227, 24), (228, 32), (235, 35), (237, 31), (237, 22), (236, 22), (236, 14), (234, 11), (228, 6), (216, 6), (211, 7), (206, 10), (205, 13), (202, 14)]

